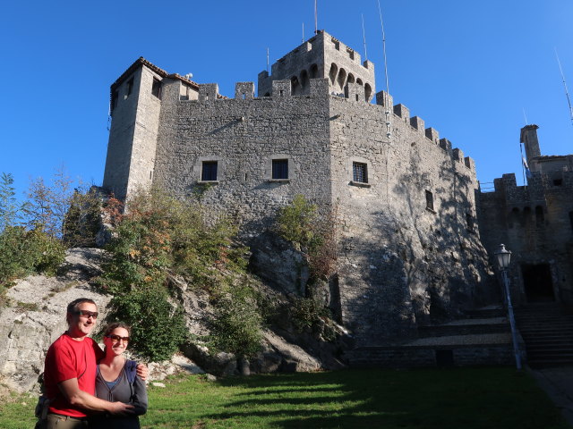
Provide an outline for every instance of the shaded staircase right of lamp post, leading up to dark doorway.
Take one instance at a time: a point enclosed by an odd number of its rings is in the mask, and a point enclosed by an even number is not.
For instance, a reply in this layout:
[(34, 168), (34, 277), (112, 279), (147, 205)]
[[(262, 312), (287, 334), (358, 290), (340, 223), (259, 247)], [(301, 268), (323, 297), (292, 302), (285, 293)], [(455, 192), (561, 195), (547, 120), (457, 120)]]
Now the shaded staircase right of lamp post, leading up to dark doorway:
[(515, 310), (532, 368), (573, 366), (573, 307), (528, 304)]

